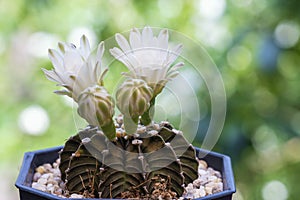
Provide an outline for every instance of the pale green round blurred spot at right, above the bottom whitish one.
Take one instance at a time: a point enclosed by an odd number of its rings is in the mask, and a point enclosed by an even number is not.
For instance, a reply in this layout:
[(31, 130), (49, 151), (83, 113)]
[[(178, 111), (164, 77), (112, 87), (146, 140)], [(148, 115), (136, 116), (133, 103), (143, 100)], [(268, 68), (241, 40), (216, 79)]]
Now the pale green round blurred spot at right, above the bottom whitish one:
[(252, 138), (253, 146), (259, 153), (269, 152), (278, 146), (278, 139), (273, 129), (260, 126)]

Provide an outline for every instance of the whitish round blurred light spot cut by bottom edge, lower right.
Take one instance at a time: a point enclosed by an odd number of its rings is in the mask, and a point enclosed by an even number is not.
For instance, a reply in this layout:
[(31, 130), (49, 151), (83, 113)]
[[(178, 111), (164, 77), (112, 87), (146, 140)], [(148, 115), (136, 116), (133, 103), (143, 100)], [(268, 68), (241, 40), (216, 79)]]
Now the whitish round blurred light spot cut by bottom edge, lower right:
[(282, 182), (273, 180), (264, 185), (262, 196), (264, 200), (285, 200), (289, 193)]

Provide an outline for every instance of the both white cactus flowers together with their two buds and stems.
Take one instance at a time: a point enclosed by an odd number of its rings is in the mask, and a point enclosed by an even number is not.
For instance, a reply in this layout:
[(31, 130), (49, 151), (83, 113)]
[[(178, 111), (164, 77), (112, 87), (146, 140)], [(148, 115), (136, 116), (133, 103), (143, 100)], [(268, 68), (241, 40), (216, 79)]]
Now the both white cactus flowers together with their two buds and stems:
[[(133, 28), (128, 41), (119, 33), (115, 39), (120, 48), (114, 47), (110, 53), (129, 70), (123, 72), (126, 78), (117, 90), (116, 105), (124, 115), (127, 134), (133, 134), (139, 120), (144, 125), (151, 123), (150, 111), (156, 96), (183, 66), (182, 62), (174, 64), (182, 45), (170, 48), (168, 31), (162, 30), (158, 36), (154, 36), (150, 27), (143, 28), (141, 32)], [(54, 68), (43, 69), (49, 80), (64, 87), (55, 93), (73, 98), (78, 103), (78, 114), (114, 140), (115, 101), (103, 81), (108, 69), (103, 67), (102, 62), (104, 42), (98, 45), (95, 55), (84, 35), (79, 48), (70, 43), (59, 43), (58, 49), (49, 49)]]

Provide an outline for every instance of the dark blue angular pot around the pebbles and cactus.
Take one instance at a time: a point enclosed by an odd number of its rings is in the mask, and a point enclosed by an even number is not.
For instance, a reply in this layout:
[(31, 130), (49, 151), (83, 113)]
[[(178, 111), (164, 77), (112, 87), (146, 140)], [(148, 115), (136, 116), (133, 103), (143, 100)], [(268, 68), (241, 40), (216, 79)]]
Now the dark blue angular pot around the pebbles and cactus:
[[(19, 188), (20, 200), (64, 200), (55, 195), (31, 188), (35, 168), (44, 163), (53, 163), (58, 158), (58, 152), (61, 149), (62, 147), (60, 146), (25, 153), (22, 168), (16, 181), (16, 187)], [(232, 194), (235, 192), (235, 185), (230, 158), (223, 154), (209, 152), (199, 148), (196, 149), (199, 158), (205, 160), (209, 166), (222, 173), (224, 185), (223, 192), (202, 197), (199, 198), (199, 200), (231, 200)]]

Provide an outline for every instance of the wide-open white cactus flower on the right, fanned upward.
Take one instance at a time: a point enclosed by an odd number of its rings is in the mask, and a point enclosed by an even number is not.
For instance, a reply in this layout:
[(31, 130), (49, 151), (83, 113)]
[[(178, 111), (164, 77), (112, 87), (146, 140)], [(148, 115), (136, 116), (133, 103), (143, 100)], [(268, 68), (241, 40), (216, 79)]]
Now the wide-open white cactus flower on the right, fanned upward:
[(169, 47), (169, 34), (166, 29), (153, 36), (152, 29), (145, 27), (142, 33), (133, 28), (129, 42), (121, 34), (115, 36), (120, 49), (114, 47), (110, 53), (130, 70), (125, 74), (132, 78), (143, 79), (153, 89), (154, 96), (161, 92), (168, 80), (178, 75), (178, 68), (183, 63), (173, 62), (179, 56), (182, 45)]

